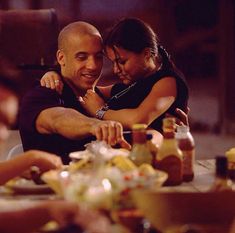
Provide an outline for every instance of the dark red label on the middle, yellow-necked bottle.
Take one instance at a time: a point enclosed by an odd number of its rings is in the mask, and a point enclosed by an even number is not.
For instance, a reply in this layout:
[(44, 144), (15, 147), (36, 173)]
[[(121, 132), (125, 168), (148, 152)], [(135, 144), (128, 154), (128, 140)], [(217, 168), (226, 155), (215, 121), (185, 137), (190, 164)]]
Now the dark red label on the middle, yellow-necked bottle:
[(162, 160), (158, 160), (156, 167), (167, 172), (168, 179), (165, 185), (179, 185), (182, 182), (183, 169), (182, 161), (178, 156), (169, 155)]

